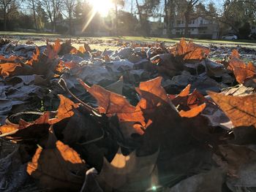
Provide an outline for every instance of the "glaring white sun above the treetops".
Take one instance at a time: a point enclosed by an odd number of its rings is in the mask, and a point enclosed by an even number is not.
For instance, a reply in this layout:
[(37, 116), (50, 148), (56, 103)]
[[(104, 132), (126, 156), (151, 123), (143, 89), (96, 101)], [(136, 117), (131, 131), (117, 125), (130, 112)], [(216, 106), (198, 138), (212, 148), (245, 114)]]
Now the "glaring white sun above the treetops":
[(107, 17), (110, 9), (113, 8), (112, 0), (89, 0), (95, 12), (99, 12), (102, 17)]

